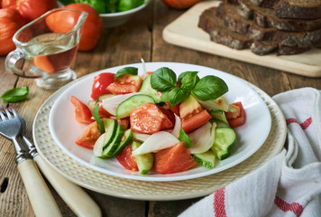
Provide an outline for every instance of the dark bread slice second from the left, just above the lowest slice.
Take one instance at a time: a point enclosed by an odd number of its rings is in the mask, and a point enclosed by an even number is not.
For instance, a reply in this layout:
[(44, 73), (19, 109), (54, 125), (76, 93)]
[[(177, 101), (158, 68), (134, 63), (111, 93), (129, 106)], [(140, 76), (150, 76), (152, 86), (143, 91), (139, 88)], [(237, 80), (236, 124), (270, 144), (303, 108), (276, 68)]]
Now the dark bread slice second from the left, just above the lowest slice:
[(273, 41), (280, 46), (306, 48), (321, 44), (321, 29), (311, 32), (285, 32), (274, 28), (261, 28), (252, 20), (244, 19), (237, 13), (238, 6), (223, 1), (217, 14), (225, 21), (230, 31), (246, 35), (254, 41)]

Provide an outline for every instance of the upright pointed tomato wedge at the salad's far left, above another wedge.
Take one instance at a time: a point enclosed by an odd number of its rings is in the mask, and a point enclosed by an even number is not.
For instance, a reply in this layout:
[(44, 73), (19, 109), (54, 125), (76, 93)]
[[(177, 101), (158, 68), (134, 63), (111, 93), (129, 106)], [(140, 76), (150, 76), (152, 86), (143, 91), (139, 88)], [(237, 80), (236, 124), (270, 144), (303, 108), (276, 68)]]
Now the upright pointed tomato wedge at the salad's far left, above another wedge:
[(85, 103), (81, 102), (74, 96), (71, 96), (70, 101), (75, 107), (75, 118), (79, 123), (90, 124), (95, 121), (91, 118), (92, 113)]

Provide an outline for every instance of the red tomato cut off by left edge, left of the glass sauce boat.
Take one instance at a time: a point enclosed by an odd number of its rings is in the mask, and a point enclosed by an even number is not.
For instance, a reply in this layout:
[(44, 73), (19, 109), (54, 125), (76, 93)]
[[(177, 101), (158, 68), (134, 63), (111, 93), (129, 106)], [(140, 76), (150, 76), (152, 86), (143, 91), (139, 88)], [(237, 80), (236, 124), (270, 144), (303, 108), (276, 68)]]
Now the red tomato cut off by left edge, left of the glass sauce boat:
[(23, 24), (23, 17), (14, 7), (0, 9), (0, 55), (14, 51), (13, 36)]

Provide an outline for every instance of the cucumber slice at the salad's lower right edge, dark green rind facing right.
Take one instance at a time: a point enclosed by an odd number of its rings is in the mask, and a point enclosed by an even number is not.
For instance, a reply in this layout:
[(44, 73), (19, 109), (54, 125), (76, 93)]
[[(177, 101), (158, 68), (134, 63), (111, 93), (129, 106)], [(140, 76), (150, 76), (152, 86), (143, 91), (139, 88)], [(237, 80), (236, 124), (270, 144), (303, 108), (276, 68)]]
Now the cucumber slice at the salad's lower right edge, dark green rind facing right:
[(219, 160), (230, 156), (236, 142), (236, 134), (231, 127), (216, 127), (216, 137), (211, 147)]

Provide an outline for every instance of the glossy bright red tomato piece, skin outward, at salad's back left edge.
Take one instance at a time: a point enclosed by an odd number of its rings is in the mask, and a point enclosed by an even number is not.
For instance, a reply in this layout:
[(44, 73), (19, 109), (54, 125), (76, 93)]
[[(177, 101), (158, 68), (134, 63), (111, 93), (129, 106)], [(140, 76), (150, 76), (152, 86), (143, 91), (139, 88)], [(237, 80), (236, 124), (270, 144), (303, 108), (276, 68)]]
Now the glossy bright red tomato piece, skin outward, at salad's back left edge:
[(91, 89), (91, 98), (96, 100), (101, 95), (111, 93), (111, 91), (107, 90), (107, 87), (115, 81), (114, 78), (115, 74), (111, 72), (103, 72), (96, 75)]

